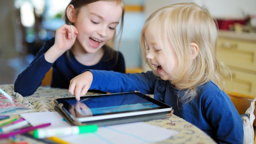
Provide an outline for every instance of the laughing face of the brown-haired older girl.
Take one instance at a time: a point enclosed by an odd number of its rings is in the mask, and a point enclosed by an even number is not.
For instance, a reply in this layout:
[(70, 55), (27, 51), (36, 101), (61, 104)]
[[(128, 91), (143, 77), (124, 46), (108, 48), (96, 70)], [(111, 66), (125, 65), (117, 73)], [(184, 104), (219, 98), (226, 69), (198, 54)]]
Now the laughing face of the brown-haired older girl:
[(115, 34), (122, 16), (122, 6), (116, 2), (97, 1), (79, 9), (74, 18), (78, 30), (75, 46), (87, 53), (95, 53)]

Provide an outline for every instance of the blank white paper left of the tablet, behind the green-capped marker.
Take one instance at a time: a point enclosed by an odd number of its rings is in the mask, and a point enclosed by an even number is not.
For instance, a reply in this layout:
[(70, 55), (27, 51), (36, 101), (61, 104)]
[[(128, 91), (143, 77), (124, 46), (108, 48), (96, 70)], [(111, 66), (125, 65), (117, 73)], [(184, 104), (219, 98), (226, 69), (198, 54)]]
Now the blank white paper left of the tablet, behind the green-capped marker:
[(47, 128), (60, 128), (70, 126), (58, 112), (33, 112), (20, 114), (20, 116), (28, 121), (32, 126), (51, 123)]

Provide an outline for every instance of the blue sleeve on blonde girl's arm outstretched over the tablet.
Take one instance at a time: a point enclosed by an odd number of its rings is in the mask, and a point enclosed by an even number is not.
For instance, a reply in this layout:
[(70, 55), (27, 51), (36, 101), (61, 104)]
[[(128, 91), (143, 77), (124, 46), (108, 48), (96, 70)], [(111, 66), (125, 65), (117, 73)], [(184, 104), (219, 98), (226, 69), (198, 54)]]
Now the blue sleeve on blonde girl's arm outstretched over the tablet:
[(111, 93), (140, 91), (143, 94), (150, 94), (154, 91), (156, 79), (152, 71), (136, 74), (105, 70), (89, 71), (93, 74), (93, 82), (89, 90), (96, 89)]

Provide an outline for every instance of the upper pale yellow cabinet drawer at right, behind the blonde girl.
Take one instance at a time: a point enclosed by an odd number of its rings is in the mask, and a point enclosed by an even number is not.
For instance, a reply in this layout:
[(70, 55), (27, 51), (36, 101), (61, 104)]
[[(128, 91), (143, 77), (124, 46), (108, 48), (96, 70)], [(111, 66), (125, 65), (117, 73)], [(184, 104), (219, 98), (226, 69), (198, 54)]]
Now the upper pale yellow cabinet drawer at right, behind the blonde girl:
[(219, 38), (218, 46), (227, 66), (256, 71), (256, 42)]

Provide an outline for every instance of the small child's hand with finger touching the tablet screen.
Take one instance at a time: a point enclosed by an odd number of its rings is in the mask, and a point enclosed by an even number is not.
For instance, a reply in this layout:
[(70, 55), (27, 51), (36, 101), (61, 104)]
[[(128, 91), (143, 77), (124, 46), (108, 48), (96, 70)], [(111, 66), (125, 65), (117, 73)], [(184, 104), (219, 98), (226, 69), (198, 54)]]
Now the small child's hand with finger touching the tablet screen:
[(76, 77), (74, 77), (69, 84), (68, 92), (75, 96), (77, 101), (80, 101), (81, 96), (85, 96), (93, 82), (93, 74), (90, 71), (86, 71)]

